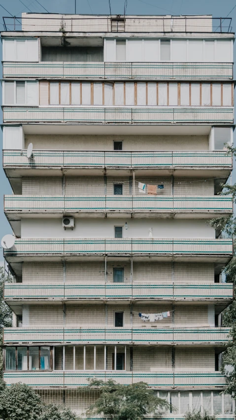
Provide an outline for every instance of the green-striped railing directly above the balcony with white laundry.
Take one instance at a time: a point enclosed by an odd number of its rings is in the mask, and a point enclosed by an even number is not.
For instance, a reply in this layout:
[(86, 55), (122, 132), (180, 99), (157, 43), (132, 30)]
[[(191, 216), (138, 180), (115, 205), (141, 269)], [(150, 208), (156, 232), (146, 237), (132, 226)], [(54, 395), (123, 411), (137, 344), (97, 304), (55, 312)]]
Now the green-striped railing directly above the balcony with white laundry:
[(229, 301), (233, 299), (229, 283), (111, 283), (79, 282), (55, 284), (5, 283), (4, 299), (153, 299), (155, 301)]

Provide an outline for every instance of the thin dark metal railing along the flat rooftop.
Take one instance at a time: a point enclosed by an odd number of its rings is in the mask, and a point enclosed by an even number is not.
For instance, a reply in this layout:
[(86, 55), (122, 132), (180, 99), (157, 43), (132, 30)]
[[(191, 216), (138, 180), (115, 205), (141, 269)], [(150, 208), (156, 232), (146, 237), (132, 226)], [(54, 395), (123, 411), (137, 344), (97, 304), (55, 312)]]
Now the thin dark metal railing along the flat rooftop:
[[(41, 16), (41, 17), (40, 17)], [(92, 16), (23, 14), (22, 17), (3, 16), (5, 31), (51, 31), (63, 36), (71, 32), (105, 33), (173, 33), (232, 31), (232, 18), (209, 16)]]

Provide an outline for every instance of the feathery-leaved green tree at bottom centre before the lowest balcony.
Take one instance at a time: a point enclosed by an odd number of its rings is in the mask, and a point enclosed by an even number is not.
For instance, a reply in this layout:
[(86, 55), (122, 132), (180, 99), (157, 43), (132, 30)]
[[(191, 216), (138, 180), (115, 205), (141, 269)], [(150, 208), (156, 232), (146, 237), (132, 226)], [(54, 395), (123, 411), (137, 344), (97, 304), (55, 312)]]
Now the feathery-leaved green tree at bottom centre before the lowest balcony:
[(111, 420), (141, 420), (146, 414), (169, 408), (169, 403), (154, 395), (144, 382), (120, 385), (115, 381), (91, 380), (85, 391), (99, 390), (100, 396), (91, 405), (87, 415), (104, 415)]

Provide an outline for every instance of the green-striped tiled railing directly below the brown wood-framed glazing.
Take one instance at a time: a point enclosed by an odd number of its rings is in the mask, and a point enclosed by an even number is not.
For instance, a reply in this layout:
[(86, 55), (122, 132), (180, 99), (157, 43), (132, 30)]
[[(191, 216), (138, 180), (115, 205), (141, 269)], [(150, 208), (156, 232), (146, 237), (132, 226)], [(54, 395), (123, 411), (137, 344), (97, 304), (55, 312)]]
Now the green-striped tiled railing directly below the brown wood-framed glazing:
[(3, 122), (97, 124), (233, 124), (234, 108), (227, 106), (4, 106)]

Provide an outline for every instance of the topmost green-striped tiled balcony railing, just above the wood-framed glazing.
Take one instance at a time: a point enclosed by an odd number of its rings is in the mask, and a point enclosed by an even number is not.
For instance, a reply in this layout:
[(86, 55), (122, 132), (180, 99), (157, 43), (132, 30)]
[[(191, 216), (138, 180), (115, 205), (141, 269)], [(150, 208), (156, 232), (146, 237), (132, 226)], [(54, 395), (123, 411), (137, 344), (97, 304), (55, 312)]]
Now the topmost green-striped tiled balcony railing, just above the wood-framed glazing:
[(47, 79), (229, 80), (233, 63), (3, 62), (3, 77)]

